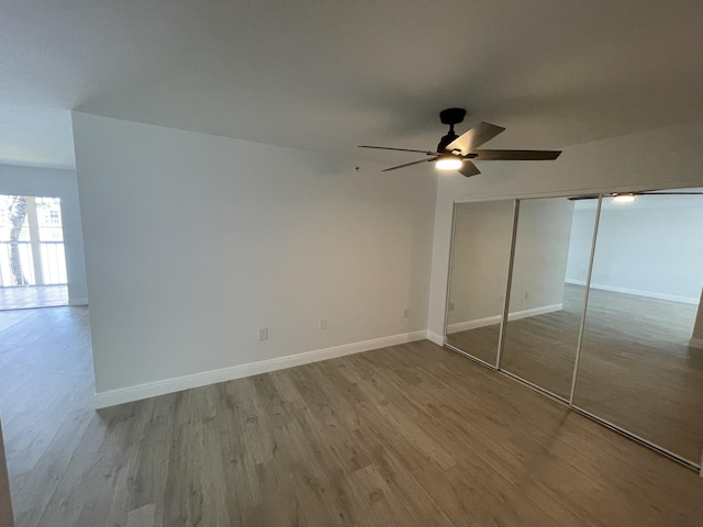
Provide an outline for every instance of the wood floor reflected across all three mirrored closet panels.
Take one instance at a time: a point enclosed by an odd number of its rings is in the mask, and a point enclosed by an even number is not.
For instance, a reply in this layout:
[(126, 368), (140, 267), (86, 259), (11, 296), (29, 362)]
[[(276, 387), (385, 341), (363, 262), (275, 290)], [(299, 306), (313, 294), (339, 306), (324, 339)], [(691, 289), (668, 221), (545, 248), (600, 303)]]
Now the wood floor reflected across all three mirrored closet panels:
[[(568, 397), (582, 299), (582, 287), (567, 284), (562, 311), (511, 321), (501, 367)], [(574, 404), (700, 462), (703, 350), (688, 346), (695, 313), (692, 304), (592, 290)], [(486, 354), (499, 328), (447, 341)]]

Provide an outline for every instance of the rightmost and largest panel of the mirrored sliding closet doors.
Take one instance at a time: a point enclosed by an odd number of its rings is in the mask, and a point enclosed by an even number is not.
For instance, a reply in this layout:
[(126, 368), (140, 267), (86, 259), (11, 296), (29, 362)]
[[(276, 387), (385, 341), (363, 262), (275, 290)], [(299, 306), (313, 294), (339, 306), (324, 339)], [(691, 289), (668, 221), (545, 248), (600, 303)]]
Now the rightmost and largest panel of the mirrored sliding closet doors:
[(603, 198), (573, 399), (693, 463), (703, 444), (701, 233), (703, 195)]

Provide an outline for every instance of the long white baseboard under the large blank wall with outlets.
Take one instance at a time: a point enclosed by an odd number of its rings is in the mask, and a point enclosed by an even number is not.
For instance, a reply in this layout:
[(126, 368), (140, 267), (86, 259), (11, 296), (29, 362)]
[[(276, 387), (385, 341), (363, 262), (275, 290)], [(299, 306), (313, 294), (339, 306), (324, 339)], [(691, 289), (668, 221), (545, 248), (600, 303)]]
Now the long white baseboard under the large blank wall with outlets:
[(427, 338), (427, 332), (423, 329), (420, 332), (403, 333), (400, 335), (392, 335), (390, 337), (344, 344), (342, 346), (316, 349), (286, 357), (277, 357), (275, 359), (249, 362), (247, 365), (233, 366), (219, 370), (203, 371), (190, 375), (164, 379), (161, 381), (147, 382), (116, 390), (108, 390), (105, 392), (96, 393), (96, 408), (105, 408), (108, 406), (131, 403), (133, 401), (165, 395), (167, 393), (189, 390), (191, 388), (231, 381), (233, 379), (242, 379), (244, 377), (258, 375), (269, 371), (282, 370), (284, 368), (292, 368), (294, 366), (308, 365), (320, 360), (333, 359), (345, 355), (359, 354), (361, 351), (370, 351), (372, 349), (384, 348), (388, 346), (423, 340), (425, 338)]

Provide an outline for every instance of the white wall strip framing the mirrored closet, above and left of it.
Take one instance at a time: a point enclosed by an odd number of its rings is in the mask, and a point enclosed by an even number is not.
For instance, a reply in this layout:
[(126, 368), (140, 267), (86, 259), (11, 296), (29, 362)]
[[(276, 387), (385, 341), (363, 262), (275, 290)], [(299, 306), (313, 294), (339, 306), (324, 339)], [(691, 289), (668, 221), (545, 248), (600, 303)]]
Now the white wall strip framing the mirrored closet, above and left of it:
[(455, 201), (698, 187), (703, 183), (701, 144), (703, 120), (696, 120), (569, 147), (556, 161), (483, 162), (483, 173), (472, 178), (443, 176), (435, 208), (428, 330), (439, 335), (444, 332)]

